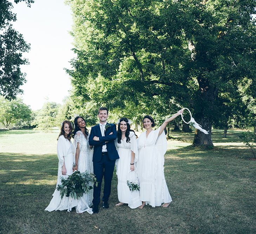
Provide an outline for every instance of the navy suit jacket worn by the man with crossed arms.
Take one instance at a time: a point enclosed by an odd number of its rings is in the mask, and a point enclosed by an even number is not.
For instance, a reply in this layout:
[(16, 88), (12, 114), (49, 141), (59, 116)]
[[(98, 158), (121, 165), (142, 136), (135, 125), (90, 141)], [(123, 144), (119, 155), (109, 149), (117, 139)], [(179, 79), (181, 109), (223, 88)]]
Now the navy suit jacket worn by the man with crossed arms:
[[(109, 135), (111, 132), (113, 134)], [(94, 136), (98, 136), (99, 141), (94, 141), (93, 140)], [(108, 153), (109, 159), (110, 160), (119, 159), (119, 155), (117, 153), (117, 149), (114, 143), (114, 140), (116, 140), (116, 138), (117, 138), (117, 129), (116, 129), (116, 125), (114, 125), (113, 123), (110, 123), (110, 127), (105, 130), (105, 136), (101, 135), (99, 124), (93, 126), (89, 136), (89, 145), (94, 146), (92, 161), (99, 162), (101, 160), (102, 146), (105, 145), (105, 141), (108, 141), (106, 145), (107, 145), (107, 153)]]

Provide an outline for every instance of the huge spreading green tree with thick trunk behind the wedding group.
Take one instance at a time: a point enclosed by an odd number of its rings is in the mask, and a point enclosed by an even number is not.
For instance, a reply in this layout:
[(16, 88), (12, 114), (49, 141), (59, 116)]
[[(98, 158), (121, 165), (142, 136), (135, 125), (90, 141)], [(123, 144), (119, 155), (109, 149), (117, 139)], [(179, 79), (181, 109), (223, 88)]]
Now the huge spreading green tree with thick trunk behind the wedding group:
[(193, 145), (212, 146), (221, 93), (245, 78), (255, 86), (254, 0), (68, 2), (78, 55), (69, 73), (86, 99), (120, 107), (175, 100), (209, 130)]

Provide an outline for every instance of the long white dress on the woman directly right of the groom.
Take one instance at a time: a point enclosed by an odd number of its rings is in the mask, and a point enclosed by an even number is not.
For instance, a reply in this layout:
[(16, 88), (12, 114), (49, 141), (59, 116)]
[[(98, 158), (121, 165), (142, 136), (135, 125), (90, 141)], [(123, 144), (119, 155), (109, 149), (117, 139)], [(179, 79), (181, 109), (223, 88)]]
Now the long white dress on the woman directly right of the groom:
[(134, 132), (130, 132), (129, 137), (130, 142), (126, 142), (126, 137), (121, 139), (121, 143), (118, 143), (117, 139), (115, 141), (119, 155), (119, 159), (116, 160), (118, 178), (117, 193), (118, 200), (120, 202), (127, 203), (130, 208), (134, 209), (141, 206), (142, 201), (140, 200), (139, 192), (131, 192), (127, 186), (127, 180), (135, 181), (137, 178), (137, 173), (135, 171), (131, 171), (130, 169), (132, 152), (135, 154), (135, 169), (138, 159), (138, 148)]

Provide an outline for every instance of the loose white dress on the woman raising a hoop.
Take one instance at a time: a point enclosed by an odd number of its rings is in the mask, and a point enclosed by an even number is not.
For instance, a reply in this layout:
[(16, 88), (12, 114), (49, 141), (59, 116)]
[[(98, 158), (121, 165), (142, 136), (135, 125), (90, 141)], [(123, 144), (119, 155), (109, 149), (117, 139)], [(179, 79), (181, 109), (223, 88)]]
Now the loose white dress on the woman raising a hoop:
[(158, 136), (159, 131), (160, 128), (153, 130), (147, 137), (146, 132), (143, 132), (137, 139), (140, 199), (152, 207), (172, 201), (164, 177), (167, 140), (164, 132)]

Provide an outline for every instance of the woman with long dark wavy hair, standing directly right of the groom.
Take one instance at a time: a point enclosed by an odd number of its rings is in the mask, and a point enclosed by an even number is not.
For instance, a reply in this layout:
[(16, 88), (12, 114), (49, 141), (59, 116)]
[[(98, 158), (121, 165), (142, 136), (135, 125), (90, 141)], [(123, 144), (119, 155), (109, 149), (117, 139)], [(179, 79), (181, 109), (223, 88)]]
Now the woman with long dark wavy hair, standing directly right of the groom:
[(117, 139), (115, 141), (119, 159), (116, 160), (117, 165), (117, 193), (120, 203), (116, 206), (127, 203), (132, 209), (142, 205), (139, 192), (131, 192), (127, 180), (137, 178), (137, 173), (134, 172), (135, 163), (138, 159), (138, 148), (136, 142), (136, 134), (131, 130), (130, 122), (127, 118), (121, 118), (118, 121)]

